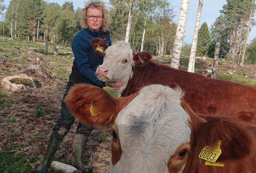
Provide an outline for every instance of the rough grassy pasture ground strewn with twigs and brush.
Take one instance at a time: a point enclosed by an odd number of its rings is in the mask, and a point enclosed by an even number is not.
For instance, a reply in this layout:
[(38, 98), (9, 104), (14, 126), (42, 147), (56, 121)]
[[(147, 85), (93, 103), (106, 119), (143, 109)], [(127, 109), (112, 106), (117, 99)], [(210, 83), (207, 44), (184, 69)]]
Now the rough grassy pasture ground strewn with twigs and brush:
[[(52, 127), (59, 117), (73, 62), (70, 47), (59, 47), (58, 56), (53, 56), (52, 49), (50, 45), (48, 55), (44, 55), (43, 43), (0, 41), (0, 78), (25, 73), (37, 81), (38, 86), (16, 92), (0, 89), (0, 172), (31, 172), (42, 161)], [(170, 61), (170, 57), (154, 58)], [(211, 63), (210, 58), (196, 60), (196, 72), (206, 73)], [(28, 69), (35, 64), (40, 64), (39, 71)], [(180, 68), (186, 70), (188, 58), (182, 58), (180, 64)], [(218, 71), (220, 79), (256, 85), (256, 65), (240, 67), (231, 61), (220, 60)], [(36, 109), (46, 115), (40, 116), (38, 111), (34, 111)], [(77, 124), (78, 121), (64, 138), (54, 160), (71, 164)], [(109, 168), (111, 134), (107, 133), (106, 140), (104, 135), (100, 129), (94, 130), (84, 152), (84, 159), (98, 173), (108, 172)], [(50, 172), (58, 171), (51, 168)]]

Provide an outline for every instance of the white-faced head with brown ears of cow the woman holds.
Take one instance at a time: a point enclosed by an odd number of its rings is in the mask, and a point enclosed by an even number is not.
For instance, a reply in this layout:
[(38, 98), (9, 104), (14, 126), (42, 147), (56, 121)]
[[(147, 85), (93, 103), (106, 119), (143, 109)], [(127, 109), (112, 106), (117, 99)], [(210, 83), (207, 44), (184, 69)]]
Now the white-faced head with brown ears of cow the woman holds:
[[(101, 81), (123, 82), (124, 85), (116, 89), (118, 97), (126, 88), (130, 77), (132, 76), (132, 67), (140, 66), (148, 62), (152, 56), (148, 52), (139, 52), (135, 54), (128, 42), (117, 41), (109, 46), (101, 38), (91, 40), (91, 45), (96, 53), (103, 55), (103, 64), (99, 65), (96, 75)], [(98, 49), (98, 47), (101, 47)], [(99, 51), (101, 50), (101, 51)]]

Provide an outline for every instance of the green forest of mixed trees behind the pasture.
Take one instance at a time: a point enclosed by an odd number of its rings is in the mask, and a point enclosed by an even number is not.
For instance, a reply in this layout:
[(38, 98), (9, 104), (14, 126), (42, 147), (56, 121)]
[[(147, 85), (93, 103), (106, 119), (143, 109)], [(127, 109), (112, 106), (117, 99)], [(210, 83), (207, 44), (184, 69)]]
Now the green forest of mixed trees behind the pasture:
[[(214, 57), (217, 41), (221, 42), (220, 57), (231, 58), (239, 63), (243, 53), (252, 0), (226, 0), (220, 15), (208, 26), (204, 22), (198, 31), (196, 56)], [(176, 12), (168, 0), (110, 0), (111, 23), (109, 31), (112, 44), (126, 40), (129, 7), (132, 22), (128, 41), (134, 51), (148, 51), (158, 57), (171, 55), (177, 29)], [(3, 11), (5, 10), (5, 13)], [(45, 41), (46, 24), (48, 39), (53, 44), (70, 45), (80, 30), (79, 8), (73, 2), (63, 4), (43, 0), (11, 0), (7, 6), (0, 0), (0, 35), (17, 40)], [(253, 6), (253, 16), (255, 6)], [(251, 26), (255, 24), (254, 19)], [(192, 27), (192, 26), (191, 26)], [(194, 27), (194, 26), (193, 26)], [(192, 27), (192, 28), (193, 28)], [(144, 40), (144, 41), (143, 41)], [(183, 43), (182, 55), (189, 57), (191, 44)], [(256, 38), (247, 44), (245, 63), (256, 64)]]

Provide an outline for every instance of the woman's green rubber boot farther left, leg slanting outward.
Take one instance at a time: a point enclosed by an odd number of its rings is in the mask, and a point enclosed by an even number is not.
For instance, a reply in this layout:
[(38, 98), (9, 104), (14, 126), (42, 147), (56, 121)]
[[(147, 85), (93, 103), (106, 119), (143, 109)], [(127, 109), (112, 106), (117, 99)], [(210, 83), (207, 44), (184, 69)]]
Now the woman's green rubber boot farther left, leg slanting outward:
[(62, 142), (62, 139), (55, 138), (53, 133), (51, 134), (43, 162), (35, 170), (35, 173), (46, 173), (47, 172), (47, 168), (51, 164), (51, 161), (52, 161), (56, 151), (58, 150), (61, 142)]

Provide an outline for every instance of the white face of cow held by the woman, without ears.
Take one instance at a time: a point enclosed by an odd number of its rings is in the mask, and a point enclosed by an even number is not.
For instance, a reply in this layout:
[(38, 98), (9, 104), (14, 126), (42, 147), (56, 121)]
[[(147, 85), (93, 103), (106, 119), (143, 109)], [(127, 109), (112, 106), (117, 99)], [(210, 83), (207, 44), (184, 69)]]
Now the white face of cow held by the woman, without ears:
[(119, 97), (132, 75), (132, 66), (134, 64), (132, 57), (130, 44), (125, 41), (117, 41), (106, 49), (103, 64), (99, 65), (96, 70), (96, 75), (101, 81), (124, 83), (123, 86), (116, 90)]

